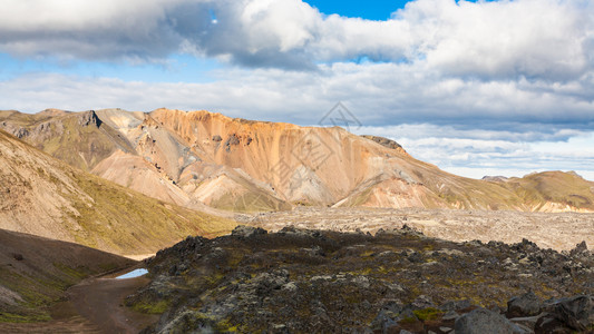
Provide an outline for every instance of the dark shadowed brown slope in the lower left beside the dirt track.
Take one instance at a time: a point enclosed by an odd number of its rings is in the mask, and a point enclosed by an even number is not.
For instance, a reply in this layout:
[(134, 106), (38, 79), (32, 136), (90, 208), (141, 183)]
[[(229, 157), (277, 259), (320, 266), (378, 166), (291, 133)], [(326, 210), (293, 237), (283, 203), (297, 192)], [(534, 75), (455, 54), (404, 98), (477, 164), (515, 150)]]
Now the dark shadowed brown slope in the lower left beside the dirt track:
[(48, 306), (64, 299), (67, 287), (134, 263), (77, 244), (0, 229), (0, 332), (7, 322), (50, 320)]

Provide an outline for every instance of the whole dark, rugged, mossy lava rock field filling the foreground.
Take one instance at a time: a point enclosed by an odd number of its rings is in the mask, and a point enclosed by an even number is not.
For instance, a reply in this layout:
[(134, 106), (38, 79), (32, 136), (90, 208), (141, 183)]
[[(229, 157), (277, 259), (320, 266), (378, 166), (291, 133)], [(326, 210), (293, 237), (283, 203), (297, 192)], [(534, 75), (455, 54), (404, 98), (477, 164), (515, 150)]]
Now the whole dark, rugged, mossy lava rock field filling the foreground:
[(163, 314), (146, 333), (593, 333), (593, 264), (585, 243), (240, 226), (157, 253), (126, 304)]

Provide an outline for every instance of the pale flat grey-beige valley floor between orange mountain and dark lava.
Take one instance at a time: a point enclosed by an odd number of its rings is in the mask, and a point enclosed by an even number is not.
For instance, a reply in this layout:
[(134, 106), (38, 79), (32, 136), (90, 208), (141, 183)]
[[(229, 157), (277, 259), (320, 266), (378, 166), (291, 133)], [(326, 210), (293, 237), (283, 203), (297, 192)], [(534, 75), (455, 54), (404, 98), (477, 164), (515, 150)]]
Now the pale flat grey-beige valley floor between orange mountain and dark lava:
[(569, 250), (583, 240), (594, 245), (594, 214), (299, 207), (292, 212), (242, 215), (238, 219), (271, 232), (293, 225), (374, 234), (380, 228), (400, 228), (406, 224), (427, 236), (454, 242), (478, 239), (512, 244), (526, 238), (542, 248), (555, 250)]

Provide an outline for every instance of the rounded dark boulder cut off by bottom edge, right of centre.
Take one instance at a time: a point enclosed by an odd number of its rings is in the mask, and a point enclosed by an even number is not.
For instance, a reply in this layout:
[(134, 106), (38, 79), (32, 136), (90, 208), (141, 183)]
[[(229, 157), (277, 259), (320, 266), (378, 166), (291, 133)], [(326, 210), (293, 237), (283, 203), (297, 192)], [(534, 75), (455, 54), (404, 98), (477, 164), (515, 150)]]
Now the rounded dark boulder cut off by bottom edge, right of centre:
[(477, 308), (456, 320), (456, 334), (523, 334), (526, 333), (505, 316)]

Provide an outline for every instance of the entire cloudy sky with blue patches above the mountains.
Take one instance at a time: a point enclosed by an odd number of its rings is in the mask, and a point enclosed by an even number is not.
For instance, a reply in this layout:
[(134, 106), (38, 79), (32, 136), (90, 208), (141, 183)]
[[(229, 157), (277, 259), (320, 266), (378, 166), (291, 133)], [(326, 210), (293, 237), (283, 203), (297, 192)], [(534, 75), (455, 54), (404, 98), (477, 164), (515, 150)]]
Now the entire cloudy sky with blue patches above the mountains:
[[(344, 127), (480, 178), (594, 180), (590, 0), (0, 0), (0, 109)], [(324, 118), (325, 117), (325, 118)]]

